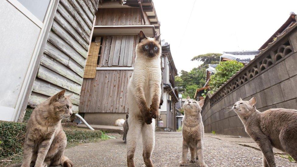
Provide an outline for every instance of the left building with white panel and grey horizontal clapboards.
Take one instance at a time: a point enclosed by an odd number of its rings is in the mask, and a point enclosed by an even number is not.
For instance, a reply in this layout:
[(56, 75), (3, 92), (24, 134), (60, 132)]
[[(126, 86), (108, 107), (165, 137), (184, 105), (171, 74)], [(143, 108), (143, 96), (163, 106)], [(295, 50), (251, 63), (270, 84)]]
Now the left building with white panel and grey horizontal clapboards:
[(27, 104), (34, 107), (62, 89), (74, 93), (73, 112), (79, 111), (98, 3), (0, 1), (0, 120), (22, 121)]

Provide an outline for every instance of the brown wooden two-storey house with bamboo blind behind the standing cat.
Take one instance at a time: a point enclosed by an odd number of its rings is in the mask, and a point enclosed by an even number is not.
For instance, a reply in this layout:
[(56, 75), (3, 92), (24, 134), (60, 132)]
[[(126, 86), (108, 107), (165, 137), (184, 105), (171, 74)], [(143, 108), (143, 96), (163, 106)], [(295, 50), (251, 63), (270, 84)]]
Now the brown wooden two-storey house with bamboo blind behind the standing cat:
[(96, 12), (90, 48), (96, 53), (87, 60), (79, 106), (89, 124), (113, 125), (129, 111), (126, 92), (139, 31), (147, 36), (160, 31), (152, 1), (138, 2), (102, 1)]

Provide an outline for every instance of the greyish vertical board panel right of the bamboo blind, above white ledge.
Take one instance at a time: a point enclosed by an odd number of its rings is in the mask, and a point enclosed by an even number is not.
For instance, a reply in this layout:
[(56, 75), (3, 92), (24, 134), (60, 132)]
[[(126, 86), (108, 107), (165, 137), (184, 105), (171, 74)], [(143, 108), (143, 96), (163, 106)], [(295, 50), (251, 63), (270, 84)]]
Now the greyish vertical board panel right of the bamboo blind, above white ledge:
[(133, 67), (138, 35), (103, 36), (99, 67)]

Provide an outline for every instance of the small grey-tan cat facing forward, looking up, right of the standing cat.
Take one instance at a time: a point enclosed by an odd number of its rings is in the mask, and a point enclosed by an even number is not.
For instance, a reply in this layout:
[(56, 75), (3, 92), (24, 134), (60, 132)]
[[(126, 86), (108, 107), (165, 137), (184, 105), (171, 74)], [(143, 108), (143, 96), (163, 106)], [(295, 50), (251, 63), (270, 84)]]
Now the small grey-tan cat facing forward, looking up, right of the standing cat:
[(207, 167), (203, 160), (203, 137), (204, 126), (201, 117), (201, 107), (204, 104), (204, 99), (199, 102), (187, 97), (183, 108), (185, 116), (183, 117), (183, 157), (180, 161), (180, 166), (187, 165), (187, 153), (190, 148), (190, 162), (195, 162), (198, 159), (200, 167)]

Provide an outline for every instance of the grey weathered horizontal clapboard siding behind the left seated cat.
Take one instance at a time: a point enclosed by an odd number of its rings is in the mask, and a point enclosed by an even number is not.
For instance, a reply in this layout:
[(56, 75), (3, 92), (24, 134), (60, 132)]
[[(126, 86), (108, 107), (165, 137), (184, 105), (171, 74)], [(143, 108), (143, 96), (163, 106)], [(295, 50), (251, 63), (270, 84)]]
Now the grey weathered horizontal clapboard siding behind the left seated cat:
[(79, 111), (80, 92), (98, 0), (60, 0), (28, 105), (37, 106), (62, 89)]

